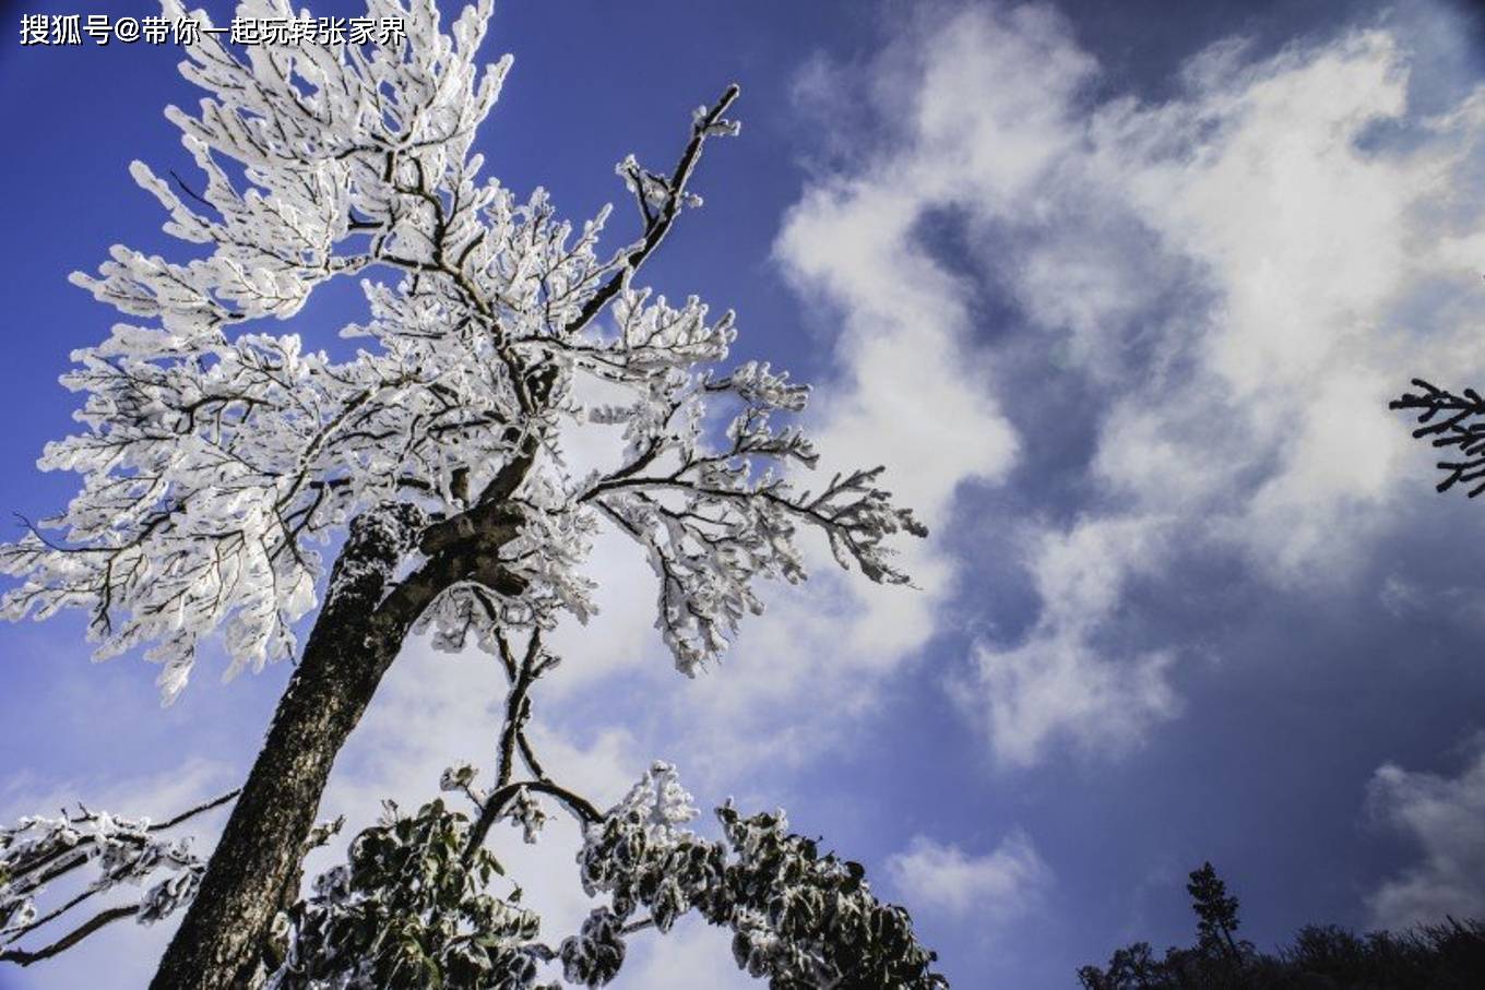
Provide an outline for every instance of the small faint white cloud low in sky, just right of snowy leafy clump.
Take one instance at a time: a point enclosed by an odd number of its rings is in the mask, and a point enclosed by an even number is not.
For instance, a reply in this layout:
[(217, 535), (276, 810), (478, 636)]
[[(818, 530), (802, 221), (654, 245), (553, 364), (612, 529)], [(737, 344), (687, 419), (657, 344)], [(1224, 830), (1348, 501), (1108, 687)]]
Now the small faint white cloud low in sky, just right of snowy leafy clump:
[(909, 908), (973, 916), (988, 926), (1026, 916), (1053, 885), (1051, 868), (1019, 831), (983, 855), (915, 836), (888, 859), (887, 873)]

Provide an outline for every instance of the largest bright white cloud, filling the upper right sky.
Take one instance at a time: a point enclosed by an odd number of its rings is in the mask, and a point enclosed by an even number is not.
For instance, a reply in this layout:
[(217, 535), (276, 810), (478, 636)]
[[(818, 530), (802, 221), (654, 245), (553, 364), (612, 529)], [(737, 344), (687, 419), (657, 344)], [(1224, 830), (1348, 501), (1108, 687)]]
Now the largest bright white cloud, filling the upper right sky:
[[(1418, 475), (1386, 410), (1399, 368), (1485, 367), (1485, 194), (1467, 181), (1485, 95), (1420, 116), (1409, 59), (1384, 30), (1267, 58), (1224, 42), (1151, 104), (1106, 95), (1053, 9), (977, 4), (864, 68), (811, 67), (809, 94), (875, 94), (891, 132), (806, 190), (780, 239), (843, 313), (860, 402), (878, 395), (870, 368), (891, 365), (907, 392), (885, 389), (881, 419), (912, 408), (947, 430), (910, 466), (962, 481), (1016, 465), (1028, 505), (1048, 493), (1029, 522), (952, 524), (1032, 531), (1040, 617), (983, 638), (955, 678), (1001, 761), (1057, 739), (1135, 745), (1178, 709), (1179, 643), (1106, 643), (1135, 577), (1173, 577), (1182, 554), (1237, 561), (1276, 592), (1360, 573)], [(952, 237), (934, 233), (941, 217)], [(1008, 303), (999, 325), (977, 325), (996, 312), (985, 297)], [(903, 349), (873, 359), (884, 338)], [(955, 374), (965, 353), (973, 381)], [(988, 429), (993, 445), (967, 439)], [(1063, 476), (1028, 473), (1042, 469)]]

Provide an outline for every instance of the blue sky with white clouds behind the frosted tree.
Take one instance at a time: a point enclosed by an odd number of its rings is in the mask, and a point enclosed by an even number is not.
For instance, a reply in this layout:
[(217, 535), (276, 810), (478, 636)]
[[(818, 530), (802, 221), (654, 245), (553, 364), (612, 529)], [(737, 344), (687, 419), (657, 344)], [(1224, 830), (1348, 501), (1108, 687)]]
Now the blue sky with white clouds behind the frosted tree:
[[(168, 47), (22, 49), (3, 9), (0, 472), (40, 517), (71, 484), (33, 468), (70, 426), (56, 376), (111, 322), (65, 275), (171, 249), (125, 169), (184, 174), (160, 108), (195, 96)], [(1485, 914), (1485, 506), (1435, 496), (1386, 411), (1414, 374), (1485, 381), (1485, 18), (508, 0), (487, 45), (515, 55), (487, 171), (572, 217), (742, 85), (742, 137), (647, 279), (737, 309), (738, 358), (814, 381), (821, 445), (887, 463), (933, 527), (916, 591), (817, 564), (696, 681), (650, 631), (643, 561), (600, 542), (604, 612), (538, 701), (552, 763), (601, 801), (665, 757), (702, 804), (786, 806), (962, 987), (1185, 941), (1203, 859), (1261, 945)], [(358, 313), (347, 289), (284, 330), (331, 347)], [(232, 787), (288, 677), (203, 669), (160, 709), (137, 658), (88, 662), (76, 616), (0, 626), (0, 665), (12, 818)], [(408, 646), (325, 810), (431, 796), (492, 750), (499, 701), (487, 658)], [(581, 910), (560, 833), (511, 855), (554, 917)], [(0, 987), (143, 986), (166, 935), (116, 926)], [(745, 986), (682, 929), (618, 986), (702, 974)]]

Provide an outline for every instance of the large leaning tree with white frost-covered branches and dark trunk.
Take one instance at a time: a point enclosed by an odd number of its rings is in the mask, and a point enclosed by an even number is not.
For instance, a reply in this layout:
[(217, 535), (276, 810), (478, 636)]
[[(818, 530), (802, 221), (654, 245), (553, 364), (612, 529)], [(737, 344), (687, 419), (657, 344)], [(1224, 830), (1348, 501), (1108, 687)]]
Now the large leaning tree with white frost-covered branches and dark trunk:
[[(165, 13), (187, 16), (177, 0)], [(199, 257), (117, 246), (97, 276), (73, 276), (134, 322), (62, 378), (85, 396), (85, 429), (42, 466), (77, 472), (77, 496), (0, 551), (21, 579), (7, 617), (85, 609), (98, 656), (148, 646), (166, 702), (206, 637), (232, 672), (297, 658), (156, 990), (233, 986), (261, 965), (334, 757), (410, 634), (477, 644), (511, 677), (500, 801), (480, 821), (545, 796), (597, 825), (545, 778), (521, 726), (549, 668), (541, 632), (593, 610), (600, 525), (647, 555), (683, 674), (760, 610), (760, 579), (805, 577), (800, 530), (884, 583), (907, 580), (890, 537), (925, 536), (881, 468), (799, 488), (793, 471), (818, 453), (777, 420), (805, 408), (806, 386), (766, 364), (726, 368), (732, 313), (634, 282), (699, 206), (689, 183), (707, 142), (738, 132), (737, 86), (696, 110), (668, 174), (619, 163), (640, 229), (603, 252), (607, 209), (575, 229), (542, 190), (521, 200), (480, 177), (475, 132), (509, 68), (475, 62), (489, 0), (447, 33), (431, 0), (368, 0), (367, 15), (399, 19), (405, 37), (239, 52), (203, 33), (187, 47), (181, 71), (206, 96), (166, 113), (203, 186), (131, 172)], [(244, 0), (238, 16), (296, 15)], [(261, 328), (350, 276), (370, 309), (342, 331), (365, 343), (353, 358)], [(607, 430), (612, 466), (563, 460), (579, 427)], [(337, 543), (327, 568), (316, 546)], [(512, 776), (515, 753), (529, 779)]]

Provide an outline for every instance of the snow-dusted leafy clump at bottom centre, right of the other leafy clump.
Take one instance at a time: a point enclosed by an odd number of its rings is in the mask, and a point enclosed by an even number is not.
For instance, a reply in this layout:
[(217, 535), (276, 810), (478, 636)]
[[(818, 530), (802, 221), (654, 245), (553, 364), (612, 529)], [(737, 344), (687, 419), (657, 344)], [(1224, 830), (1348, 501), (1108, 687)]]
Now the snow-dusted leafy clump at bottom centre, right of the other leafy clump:
[(689, 910), (731, 928), (738, 966), (775, 990), (949, 986), (931, 971), (936, 956), (907, 911), (878, 901), (860, 864), (790, 834), (783, 812), (742, 818), (729, 801), (717, 809), (725, 843), (680, 827), (695, 816), (674, 767), (656, 763), (588, 827), (578, 858), (584, 889), (610, 904), (563, 943), (569, 981), (612, 980), (628, 922), (646, 908), (662, 932)]

